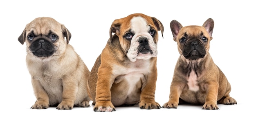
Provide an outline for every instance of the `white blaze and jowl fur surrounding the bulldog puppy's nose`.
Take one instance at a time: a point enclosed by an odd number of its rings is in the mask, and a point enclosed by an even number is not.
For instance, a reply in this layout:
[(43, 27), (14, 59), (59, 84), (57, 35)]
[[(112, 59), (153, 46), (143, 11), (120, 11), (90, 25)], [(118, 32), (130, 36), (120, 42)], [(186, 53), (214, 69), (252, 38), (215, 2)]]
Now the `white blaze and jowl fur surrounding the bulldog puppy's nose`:
[[(130, 21), (131, 32), (134, 33), (130, 48), (128, 50), (127, 56), (130, 61), (136, 61), (136, 59), (150, 59), (151, 57), (157, 56), (157, 45), (154, 43), (153, 37), (148, 33), (150, 26), (148, 22), (142, 17), (134, 17)], [(141, 54), (138, 51), (139, 38), (144, 37), (148, 39), (148, 44), (152, 50), (152, 53)]]

